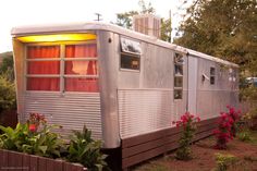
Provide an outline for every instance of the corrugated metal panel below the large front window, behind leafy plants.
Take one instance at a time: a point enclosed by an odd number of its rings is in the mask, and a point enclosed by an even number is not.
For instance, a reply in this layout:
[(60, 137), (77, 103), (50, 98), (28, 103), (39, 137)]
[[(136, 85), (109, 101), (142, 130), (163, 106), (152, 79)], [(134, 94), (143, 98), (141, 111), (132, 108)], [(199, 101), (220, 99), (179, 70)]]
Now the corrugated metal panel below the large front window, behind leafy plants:
[(28, 119), (29, 112), (38, 112), (46, 117), (49, 124), (61, 125), (58, 132), (64, 136), (71, 130), (82, 130), (85, 124), (91, 130), (94, 138), (102, 138), (99, 93), (27, 93), (21, 102), (24, 103), (20, 117), (23, 122)]

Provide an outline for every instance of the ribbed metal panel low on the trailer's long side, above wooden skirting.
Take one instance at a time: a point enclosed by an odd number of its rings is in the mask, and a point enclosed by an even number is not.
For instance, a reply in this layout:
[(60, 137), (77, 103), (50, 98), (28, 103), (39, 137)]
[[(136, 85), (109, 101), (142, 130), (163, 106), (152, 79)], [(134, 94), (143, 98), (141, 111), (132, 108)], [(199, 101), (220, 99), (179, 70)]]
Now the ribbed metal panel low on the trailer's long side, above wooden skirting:
[(118, 90), (121, 138), (170, 127), (172, 90)]

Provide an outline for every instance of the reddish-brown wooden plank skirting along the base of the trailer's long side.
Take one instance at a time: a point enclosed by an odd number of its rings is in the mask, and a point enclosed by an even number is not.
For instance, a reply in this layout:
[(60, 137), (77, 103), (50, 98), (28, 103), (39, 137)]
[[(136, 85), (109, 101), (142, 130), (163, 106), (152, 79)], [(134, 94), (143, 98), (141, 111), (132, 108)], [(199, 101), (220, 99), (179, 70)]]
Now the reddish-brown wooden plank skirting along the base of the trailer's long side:
[[(197, 123), (194, 141), (212, 135), (218, 118)], [(172, 127), (155, 133), (122, 139), (122, 169), (179, 147), (182, 129)]]

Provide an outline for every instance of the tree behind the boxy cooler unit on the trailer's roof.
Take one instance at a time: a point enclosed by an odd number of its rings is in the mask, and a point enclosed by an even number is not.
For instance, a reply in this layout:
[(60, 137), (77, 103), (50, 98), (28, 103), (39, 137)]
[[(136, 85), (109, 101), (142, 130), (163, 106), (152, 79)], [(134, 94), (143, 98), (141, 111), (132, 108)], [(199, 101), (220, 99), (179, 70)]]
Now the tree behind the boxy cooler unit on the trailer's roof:
[[(146, 4), (144, 0), (139, 0), (138, 5), (140, 11), (128, 11), (117, 14), (117, 25), (123, 26), (127, 29), (132, 29), (132, 19), (137, 14), (155, 14), (156, 10), (151, 7), (151, 3)], [(164, 41), (171, 41), (171, 20), (161, 19), (161, 39)]]

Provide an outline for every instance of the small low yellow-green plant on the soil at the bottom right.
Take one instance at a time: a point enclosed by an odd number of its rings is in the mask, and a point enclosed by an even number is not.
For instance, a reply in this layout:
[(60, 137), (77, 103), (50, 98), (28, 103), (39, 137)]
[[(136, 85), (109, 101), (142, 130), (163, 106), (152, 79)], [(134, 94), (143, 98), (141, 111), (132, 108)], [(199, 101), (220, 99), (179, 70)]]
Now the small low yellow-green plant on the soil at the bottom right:
[(232, 167), (237, 161), (237, 158), (233, 155), (222, 155), (216, 154), (216, 163), (217, 171), (227, 171), (230, 167)]

